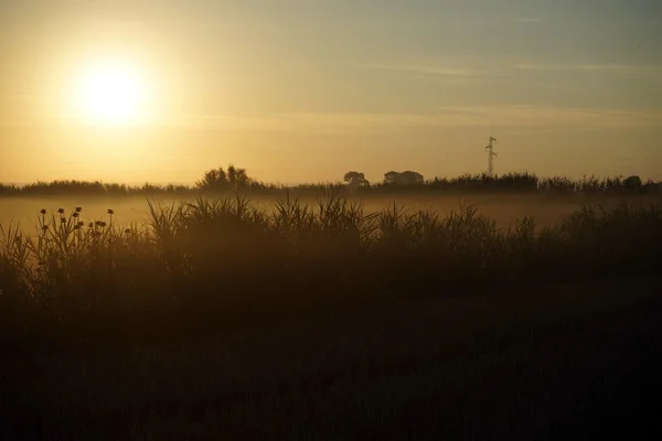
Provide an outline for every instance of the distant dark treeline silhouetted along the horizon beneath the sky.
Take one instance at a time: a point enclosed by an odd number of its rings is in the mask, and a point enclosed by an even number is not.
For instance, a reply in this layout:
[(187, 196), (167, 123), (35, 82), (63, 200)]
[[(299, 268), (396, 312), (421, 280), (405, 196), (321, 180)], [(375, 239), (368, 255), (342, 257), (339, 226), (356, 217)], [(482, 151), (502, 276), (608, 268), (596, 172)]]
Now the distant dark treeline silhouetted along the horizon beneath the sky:
[(573, 180), (565, 176), (540, 178), (533, 173), (462, 174), (456, 178), (424, 180), (413, 171), (387, 172), (384, 180), (370, 183), (364, 173), (350, 171), (343, 182), (317, 184), (281, 185), (264, 183), (249, 178), (245, 169), (228, 165), (227, 169), (209, 170), (194, 186), (189, 185), (126, 185), (99, 181), (53, 181), (26, 185), (0, 184), (0, 196), (62, 196), (62, 195), (196, 195), (241, 192), (246, 194), (311, 193), (391, 194), (394, 192), (440, 192), (440, 193), (530, 193), (552, 196), (569, 195), (623, 195), (662, 194), (662, 183), (642, 182), (639, 176), (596, 178), (585, 176)]

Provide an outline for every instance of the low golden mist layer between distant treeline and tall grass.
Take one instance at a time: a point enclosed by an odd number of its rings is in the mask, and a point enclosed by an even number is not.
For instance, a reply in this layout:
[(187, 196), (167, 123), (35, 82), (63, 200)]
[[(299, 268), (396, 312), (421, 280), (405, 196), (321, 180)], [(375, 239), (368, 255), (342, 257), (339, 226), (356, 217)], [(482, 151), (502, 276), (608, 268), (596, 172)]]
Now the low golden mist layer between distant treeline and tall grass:
[[(232, 194), (205, 195), (205, 198), (234, 197)], [(269, 208), (278, 200), (285, 200), (287, 195), (246, 195), (252, 204)], [(290, 200), (298, 200), (300, 203), (317, 205), (317, 201), (323, 197), (323, 194), (311, 195), (310, 193), (297, 194), (291, 192)], [(99, 220), (108, 218), (108, 209), (115, 213), (114, 220), (121, 224), (145, 224), (149, 220), (149, 208), (147, 201), (153, 201), (160, 204), (171, 205), (181, 202), (194, 202), (195, 196), (173, 196), (173, 195), (127, 195), (127, 196), (18, 196), (0, 198), (0, 225), (15, 225), (31, 228), (35, 225), (41, 209), (47, 213), (55, 213), (58, 208), (64, 208), (66, 213), (75, 207), (83, 207), (83, 220)], [(398, 208), (405, 211), (429, 209), (437, 212), (440, 216), (446, 216), (451, 212), (457, 212), (462, 207), (474, 206), (478, 213), (489, 216), (496, 220), (499, 225), (508, 226), (516, 219), (524, 216), (533, 216), (537, 225), (551, 225), (560, 220), (583, 204), (599, 205), (605, 208), (612, 208), (620, 203), (627, 202), (631, 205), (648, 205), (659, 203), (660, 196), (651, 195), (631, 195), (631, 196), (567, 196), (551, 197), (547, 195), (513, 195), (513, 194), (375, 194), (348, 196), (349, 202), (363, 203), (366, 214), (386, 208), (393, 208), (394, 203)]]

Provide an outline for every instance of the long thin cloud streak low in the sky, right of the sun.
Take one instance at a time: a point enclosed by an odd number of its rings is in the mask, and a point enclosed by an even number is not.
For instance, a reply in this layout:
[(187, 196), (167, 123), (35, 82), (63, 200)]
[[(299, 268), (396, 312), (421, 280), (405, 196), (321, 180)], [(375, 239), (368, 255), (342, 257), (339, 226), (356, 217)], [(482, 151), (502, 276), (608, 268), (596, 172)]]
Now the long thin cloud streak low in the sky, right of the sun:
[(185, 127), (327, 136), (383, 135), (424, 128), (581, 130), (659, 127), (662, 112), (524, 105), (438, 107), (426, 114), (285, 112), (259, 117), (185, 116)]

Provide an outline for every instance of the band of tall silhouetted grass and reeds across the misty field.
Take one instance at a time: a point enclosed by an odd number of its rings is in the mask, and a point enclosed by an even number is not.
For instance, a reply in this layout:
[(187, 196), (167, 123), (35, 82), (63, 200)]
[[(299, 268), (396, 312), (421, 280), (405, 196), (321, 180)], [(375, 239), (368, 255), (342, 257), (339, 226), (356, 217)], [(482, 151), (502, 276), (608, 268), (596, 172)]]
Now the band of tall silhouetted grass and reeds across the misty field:
[(511, 228), (473, 206), (440, 216), (393, 205), (366, 213), (333, 193), (289, 194), (270, 207), (244, 196), (149, 202), (146, 225), (82, 220), (83, 208), (38, 215), (34, 232), (0, 226), (4, 338), (93, 329), (216, 325), (387, 297), (654, 270), (662, 207), (586, 205), (554, 227)]

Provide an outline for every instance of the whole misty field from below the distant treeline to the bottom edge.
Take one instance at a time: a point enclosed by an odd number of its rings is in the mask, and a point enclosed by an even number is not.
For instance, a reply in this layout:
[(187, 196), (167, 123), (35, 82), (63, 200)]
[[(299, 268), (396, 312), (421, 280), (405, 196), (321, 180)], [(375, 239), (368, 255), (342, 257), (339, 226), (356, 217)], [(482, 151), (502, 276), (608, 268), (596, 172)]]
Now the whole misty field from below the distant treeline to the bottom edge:
[(653, 197), (189, 202), (0, 198), (4, 438), (660, 431)]

